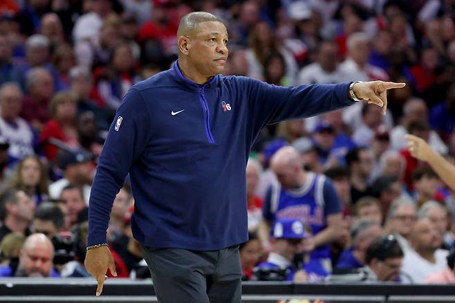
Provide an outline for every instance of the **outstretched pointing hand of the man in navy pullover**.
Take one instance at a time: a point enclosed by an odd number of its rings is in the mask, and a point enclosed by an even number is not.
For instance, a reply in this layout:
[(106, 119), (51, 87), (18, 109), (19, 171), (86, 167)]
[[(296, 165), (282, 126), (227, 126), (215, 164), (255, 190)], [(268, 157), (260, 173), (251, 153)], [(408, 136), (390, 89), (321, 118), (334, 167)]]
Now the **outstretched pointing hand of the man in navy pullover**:
[(382, 115), (387, 111), (387, 89), (401, 89), (406, 83), (370, 81), (360, 82), (353, 86), (357, 98), (382, 107)]

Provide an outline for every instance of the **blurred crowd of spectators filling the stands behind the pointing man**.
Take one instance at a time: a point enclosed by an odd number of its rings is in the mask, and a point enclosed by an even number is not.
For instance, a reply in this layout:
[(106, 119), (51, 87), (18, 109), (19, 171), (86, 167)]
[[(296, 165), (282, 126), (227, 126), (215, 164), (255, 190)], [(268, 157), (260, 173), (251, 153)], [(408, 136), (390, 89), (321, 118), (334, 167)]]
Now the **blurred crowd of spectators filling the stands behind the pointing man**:
[[(129, 88), (177, 59), (178, 21), (196, 10), (228, 28), (225, 75), (407, 83), (385, 116), (358, 102), (263, 129), (246, 169), (243, 279), (455, 282), (455, 194), (405, 140), (455, 163), (454, 0), (0, 1), (0, 277), (89, 276), (106, 132)], [(127, 179), (109, 248), (118, 277), (146, 278), (133, 203)]]

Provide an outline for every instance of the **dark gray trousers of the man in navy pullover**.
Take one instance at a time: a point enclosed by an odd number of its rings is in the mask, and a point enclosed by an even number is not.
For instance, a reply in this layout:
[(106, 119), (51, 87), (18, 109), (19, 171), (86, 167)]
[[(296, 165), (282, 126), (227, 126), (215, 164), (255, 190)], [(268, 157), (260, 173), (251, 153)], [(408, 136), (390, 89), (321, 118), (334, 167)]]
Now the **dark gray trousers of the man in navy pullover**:
[(240, 303), (239, 246), (214, 251), (142, 246), (160, 303)]

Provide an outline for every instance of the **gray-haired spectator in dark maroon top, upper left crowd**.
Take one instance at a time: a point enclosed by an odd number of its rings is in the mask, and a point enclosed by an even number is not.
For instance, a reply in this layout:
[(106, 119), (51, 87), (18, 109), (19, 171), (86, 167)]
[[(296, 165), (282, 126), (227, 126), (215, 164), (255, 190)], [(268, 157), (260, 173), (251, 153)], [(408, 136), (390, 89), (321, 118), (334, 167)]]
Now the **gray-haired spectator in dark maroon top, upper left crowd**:
[(24, 97), (21, 116), (41, 131), (50, 118), (48, 107), (54, 93), (52, 75), (44, 67), (34, 67), (26, 73), (28, 95)]

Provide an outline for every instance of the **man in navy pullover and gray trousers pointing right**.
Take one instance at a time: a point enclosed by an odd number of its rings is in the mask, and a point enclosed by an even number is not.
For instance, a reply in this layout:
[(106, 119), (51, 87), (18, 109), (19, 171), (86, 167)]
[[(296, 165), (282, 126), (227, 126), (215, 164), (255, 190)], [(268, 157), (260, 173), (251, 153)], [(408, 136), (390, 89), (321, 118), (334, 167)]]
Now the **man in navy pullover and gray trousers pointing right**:
[(129, 173), (131, 229), (158, 301), (240, 302), (238, 246), (248, 240), (245, 165), (259, 131), (360, 99), (385, 112), (387, 89), (404, 84), (285, 88), (224, 77), (229, 36), (218, 18), (192, 12), (180, 20), (177, 35), (178, 61), (131, 87), (109, 129), (91, 191), (85, 264), (100, 295), (106, 270), (115, 273), (106, 247), (109, 214)]

